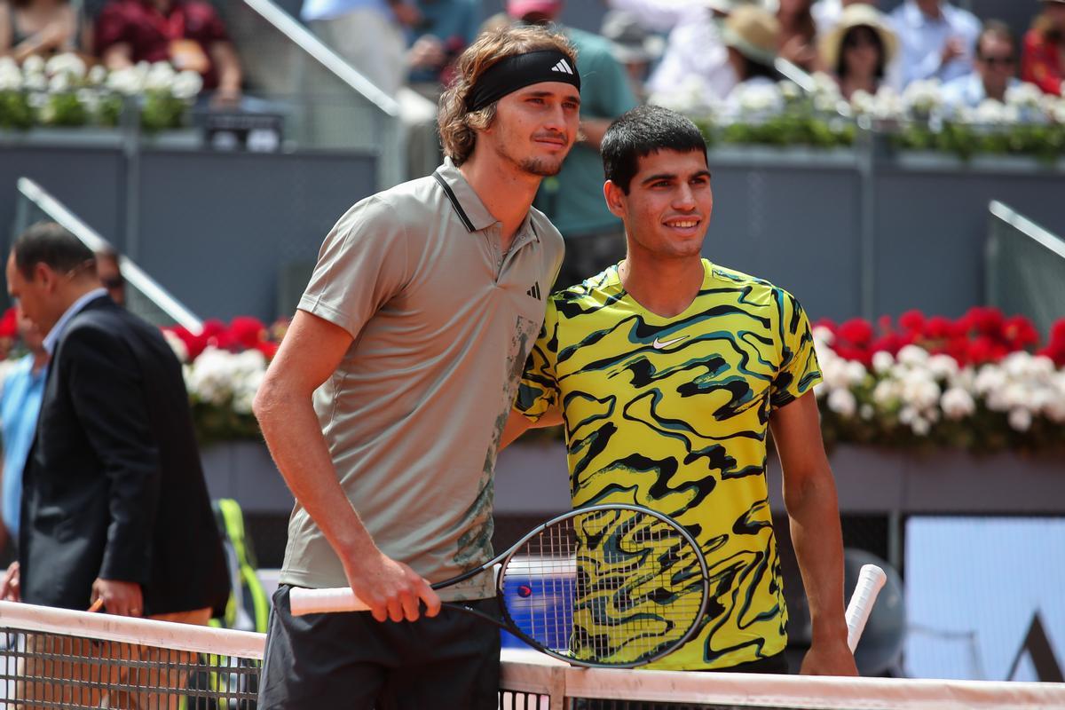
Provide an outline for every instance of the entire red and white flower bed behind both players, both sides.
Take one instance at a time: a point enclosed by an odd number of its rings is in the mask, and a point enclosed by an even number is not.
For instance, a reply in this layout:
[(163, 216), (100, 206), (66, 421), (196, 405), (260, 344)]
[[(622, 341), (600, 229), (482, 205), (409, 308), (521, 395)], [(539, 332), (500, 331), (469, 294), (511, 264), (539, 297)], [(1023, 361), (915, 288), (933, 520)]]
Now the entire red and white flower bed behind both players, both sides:
[[(258, 439), (251, 400), (284, 321), (166, 329), (185, 364), (201, 441)], [(875, 325), (814, 328), (825, 442), (971, 451), (1065, 448), (1065, 319), (1049, 337), (1023, 317), (974, 308), (957, 319), (912, 311)], [(557, 434), (555, 434), (557, 435)]]

